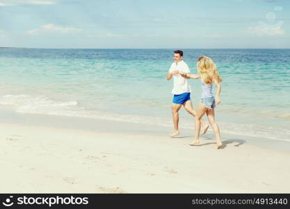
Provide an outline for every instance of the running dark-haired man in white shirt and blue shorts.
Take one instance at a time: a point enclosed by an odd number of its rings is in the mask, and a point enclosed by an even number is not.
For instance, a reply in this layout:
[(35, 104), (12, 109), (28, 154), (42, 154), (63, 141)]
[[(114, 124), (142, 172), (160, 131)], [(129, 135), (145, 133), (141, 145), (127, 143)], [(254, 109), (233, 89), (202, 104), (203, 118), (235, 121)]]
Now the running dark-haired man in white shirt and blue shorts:
[[(172, 100), (172, 116), (174, 130), (172, 134), (170, 134), (170, 137), (175, 137), (179, 134), (178, 111), (180, 107), (184, 106), (186, 111), (188, 111), (188, 113), (191, 114), (192, 116), (195, 116), (196, 114), (196, 112), (193, 109), (193, 104), (191, 103), (191, 86), (189, 86), (187, 79), (179, 74), (179, 72), (185, 73), (190, 72), (188, 65), (183, 61), (183, 52), (180, 50), (176, 50), (174, 52), (173, 59), (174, 63), (171, 64), (169, 72), (167, 74), (168, 80), (170, 80), (173, 77), (173, 89), (171, 93), (174, 95)], [(201, 124), (203, 127), (202, 134), (204, 134), (205, 132), (207, 132), (209, 125), (204, 124), (202, 120)]]

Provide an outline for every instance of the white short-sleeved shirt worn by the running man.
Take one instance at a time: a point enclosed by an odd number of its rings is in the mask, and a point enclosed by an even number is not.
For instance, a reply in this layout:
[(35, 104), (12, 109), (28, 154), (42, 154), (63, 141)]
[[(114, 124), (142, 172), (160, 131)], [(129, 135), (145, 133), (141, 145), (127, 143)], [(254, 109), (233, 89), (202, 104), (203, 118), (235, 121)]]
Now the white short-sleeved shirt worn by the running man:
[[(189, 73), (190, 70), (188, 68), (188, 65), (182, 60), (179, 61), (178, 63), (172, 63), (169, 72), (178, 70), (179, 72), (186, 72)], [(173, 89), (171, 91), (172, 94), (182, 94), (182, 93), (187, 93), (191, 92), (191, 86), (189, 86), (187, 79), (182, 77), (179, 74), (172, 75), (173, 77)]]

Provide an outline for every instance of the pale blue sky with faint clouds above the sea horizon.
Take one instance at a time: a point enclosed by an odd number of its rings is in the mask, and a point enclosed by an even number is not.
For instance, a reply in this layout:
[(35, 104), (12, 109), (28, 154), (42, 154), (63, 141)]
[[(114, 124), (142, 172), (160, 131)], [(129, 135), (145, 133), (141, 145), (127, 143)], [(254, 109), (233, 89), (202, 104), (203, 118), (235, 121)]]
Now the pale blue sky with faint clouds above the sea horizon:
[(290, 1), (0, 0), (0, 46), (290, 48)]

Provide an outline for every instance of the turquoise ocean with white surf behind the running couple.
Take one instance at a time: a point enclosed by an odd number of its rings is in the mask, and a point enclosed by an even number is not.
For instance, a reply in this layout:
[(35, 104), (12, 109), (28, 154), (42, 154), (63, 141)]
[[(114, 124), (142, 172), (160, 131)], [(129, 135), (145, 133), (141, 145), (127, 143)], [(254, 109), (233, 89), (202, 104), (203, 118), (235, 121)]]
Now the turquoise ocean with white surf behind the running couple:
[[(170, 132), (166, 74), (173, 50), (3, 48), (0, 104), (22, 113), (162, 125)], [(216, 108), (222, 133), (290, 142), (290, 49), (184, 49), (192, 73), (201, 55), (216, 62), (223, 78)], [(200, 81), (189, 83), (196, 108)], [(193, 129), (184, 110), (180, 123)]]

